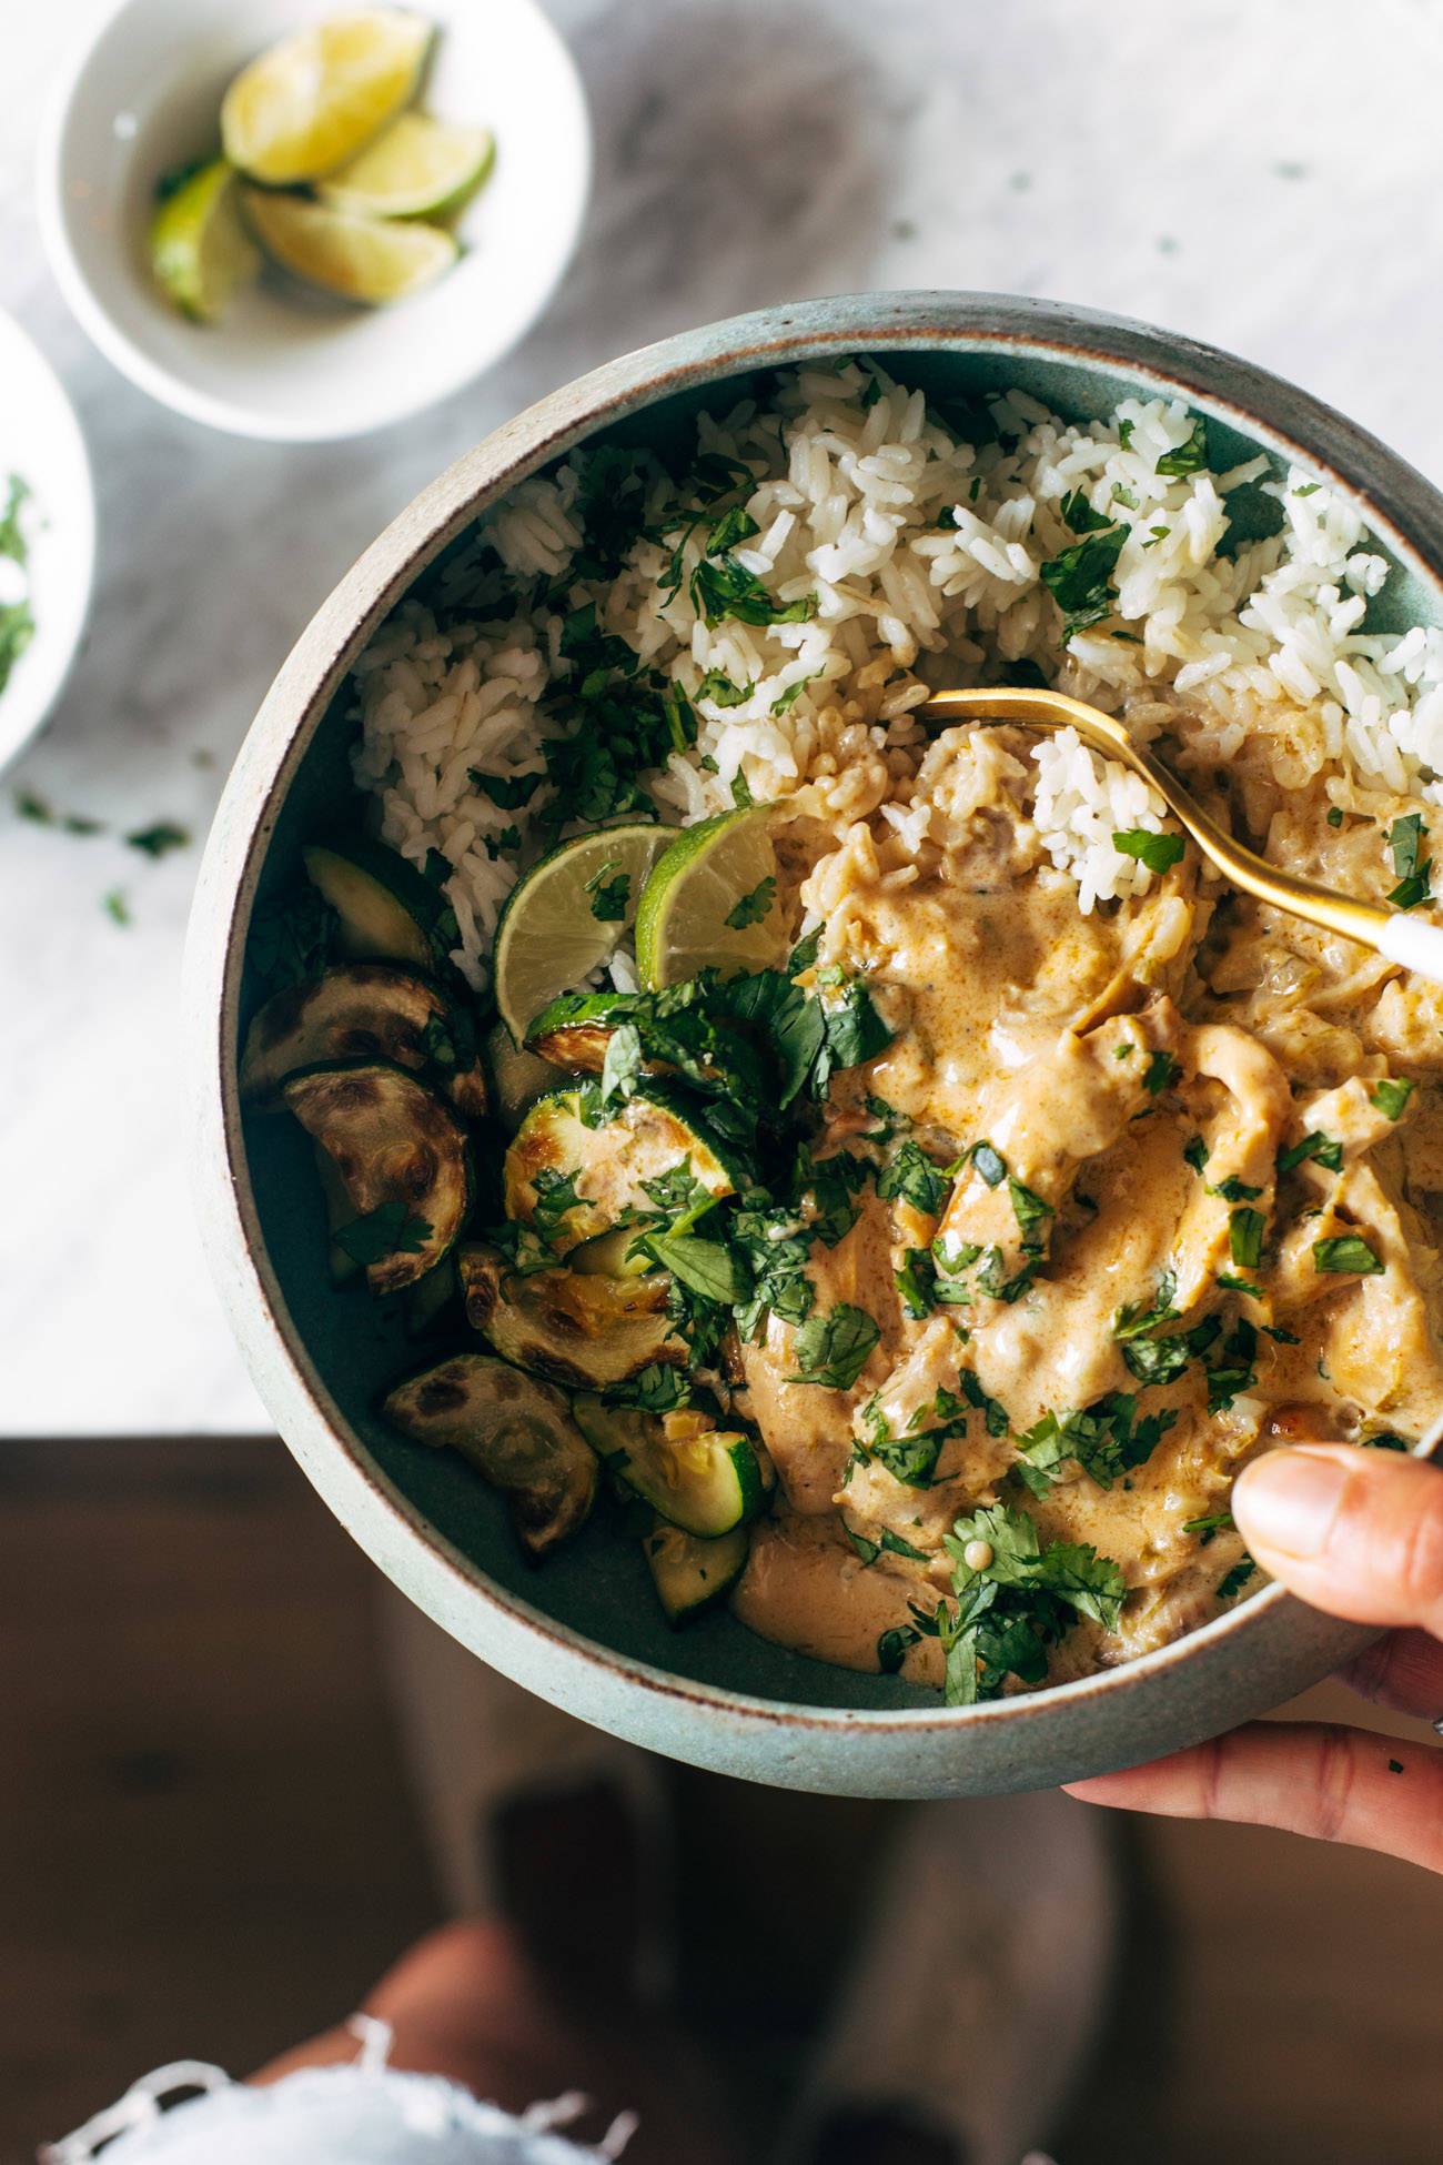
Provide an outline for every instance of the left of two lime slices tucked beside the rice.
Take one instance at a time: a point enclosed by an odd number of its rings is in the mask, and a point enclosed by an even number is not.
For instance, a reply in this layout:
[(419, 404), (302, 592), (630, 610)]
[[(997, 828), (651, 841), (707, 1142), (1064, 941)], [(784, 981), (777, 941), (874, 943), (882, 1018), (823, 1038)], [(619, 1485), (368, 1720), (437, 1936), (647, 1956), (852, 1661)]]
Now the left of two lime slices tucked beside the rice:
[[(495, 927), (495, 1005), (513, 1039), (617, 953), (673, 827), (599, 827), (562, 842), (511, 890)], [(610, 911), (619, 911), (612, 916)]]

